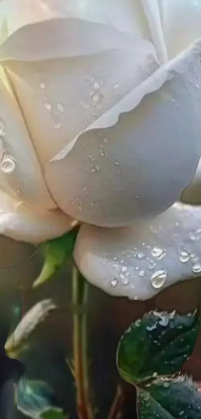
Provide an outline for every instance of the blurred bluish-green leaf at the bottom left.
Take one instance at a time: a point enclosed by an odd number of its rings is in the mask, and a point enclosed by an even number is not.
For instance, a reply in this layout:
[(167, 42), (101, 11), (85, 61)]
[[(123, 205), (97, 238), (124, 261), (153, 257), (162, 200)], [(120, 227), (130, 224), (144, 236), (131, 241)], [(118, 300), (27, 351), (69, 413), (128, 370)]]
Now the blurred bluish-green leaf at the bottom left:
[(22, 378), (16, 388), (16, 404), (25, 416), (40, 419), (44, 412), (57, 406), (57, 401), (46, 383)]

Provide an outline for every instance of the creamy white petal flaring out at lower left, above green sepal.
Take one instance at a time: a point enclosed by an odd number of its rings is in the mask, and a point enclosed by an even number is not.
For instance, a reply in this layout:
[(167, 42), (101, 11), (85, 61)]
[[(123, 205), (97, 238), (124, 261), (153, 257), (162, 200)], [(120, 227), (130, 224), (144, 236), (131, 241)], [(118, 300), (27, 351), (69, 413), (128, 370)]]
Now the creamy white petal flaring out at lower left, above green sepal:
[(61, 236), (75, 224), (59, 210), (34, 212), (0, 192), (0, 234), (11, 239), (39, 243)]

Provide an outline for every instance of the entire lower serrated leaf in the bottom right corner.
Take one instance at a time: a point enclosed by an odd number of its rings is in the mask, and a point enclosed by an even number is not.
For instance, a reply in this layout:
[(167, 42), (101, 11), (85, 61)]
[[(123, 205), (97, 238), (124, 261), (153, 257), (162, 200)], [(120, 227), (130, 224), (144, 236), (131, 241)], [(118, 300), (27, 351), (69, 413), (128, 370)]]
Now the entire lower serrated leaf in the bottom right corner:
[(147, 392), (138, 390), (139, 419), (201, 418), (201, 393), (188, 378), (158, 380)]

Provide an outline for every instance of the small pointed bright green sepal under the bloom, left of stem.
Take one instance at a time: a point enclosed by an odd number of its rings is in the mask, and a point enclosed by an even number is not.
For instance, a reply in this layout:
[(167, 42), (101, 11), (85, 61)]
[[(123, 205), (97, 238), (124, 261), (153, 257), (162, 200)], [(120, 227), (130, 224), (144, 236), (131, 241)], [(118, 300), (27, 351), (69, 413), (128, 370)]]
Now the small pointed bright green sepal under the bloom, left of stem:
[(33, 283), (33, 288), (46, 282), (65, 262), (67, 257), (72, 255), (76, 237), (77, 229), (74, 229), (64, 236), (43, 244), (44, 264), (39, 277)]

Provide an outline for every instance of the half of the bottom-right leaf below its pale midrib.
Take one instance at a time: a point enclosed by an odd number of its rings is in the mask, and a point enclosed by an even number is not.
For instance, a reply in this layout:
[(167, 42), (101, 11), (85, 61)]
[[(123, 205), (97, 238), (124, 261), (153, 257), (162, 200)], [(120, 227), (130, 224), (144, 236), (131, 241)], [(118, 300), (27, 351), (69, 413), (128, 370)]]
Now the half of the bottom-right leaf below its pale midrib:
[[(168, 413), (149, 393), (138, 389), (139, 419), (178, 419)], [(181, 418), (182, 419), (182, 418)]]

